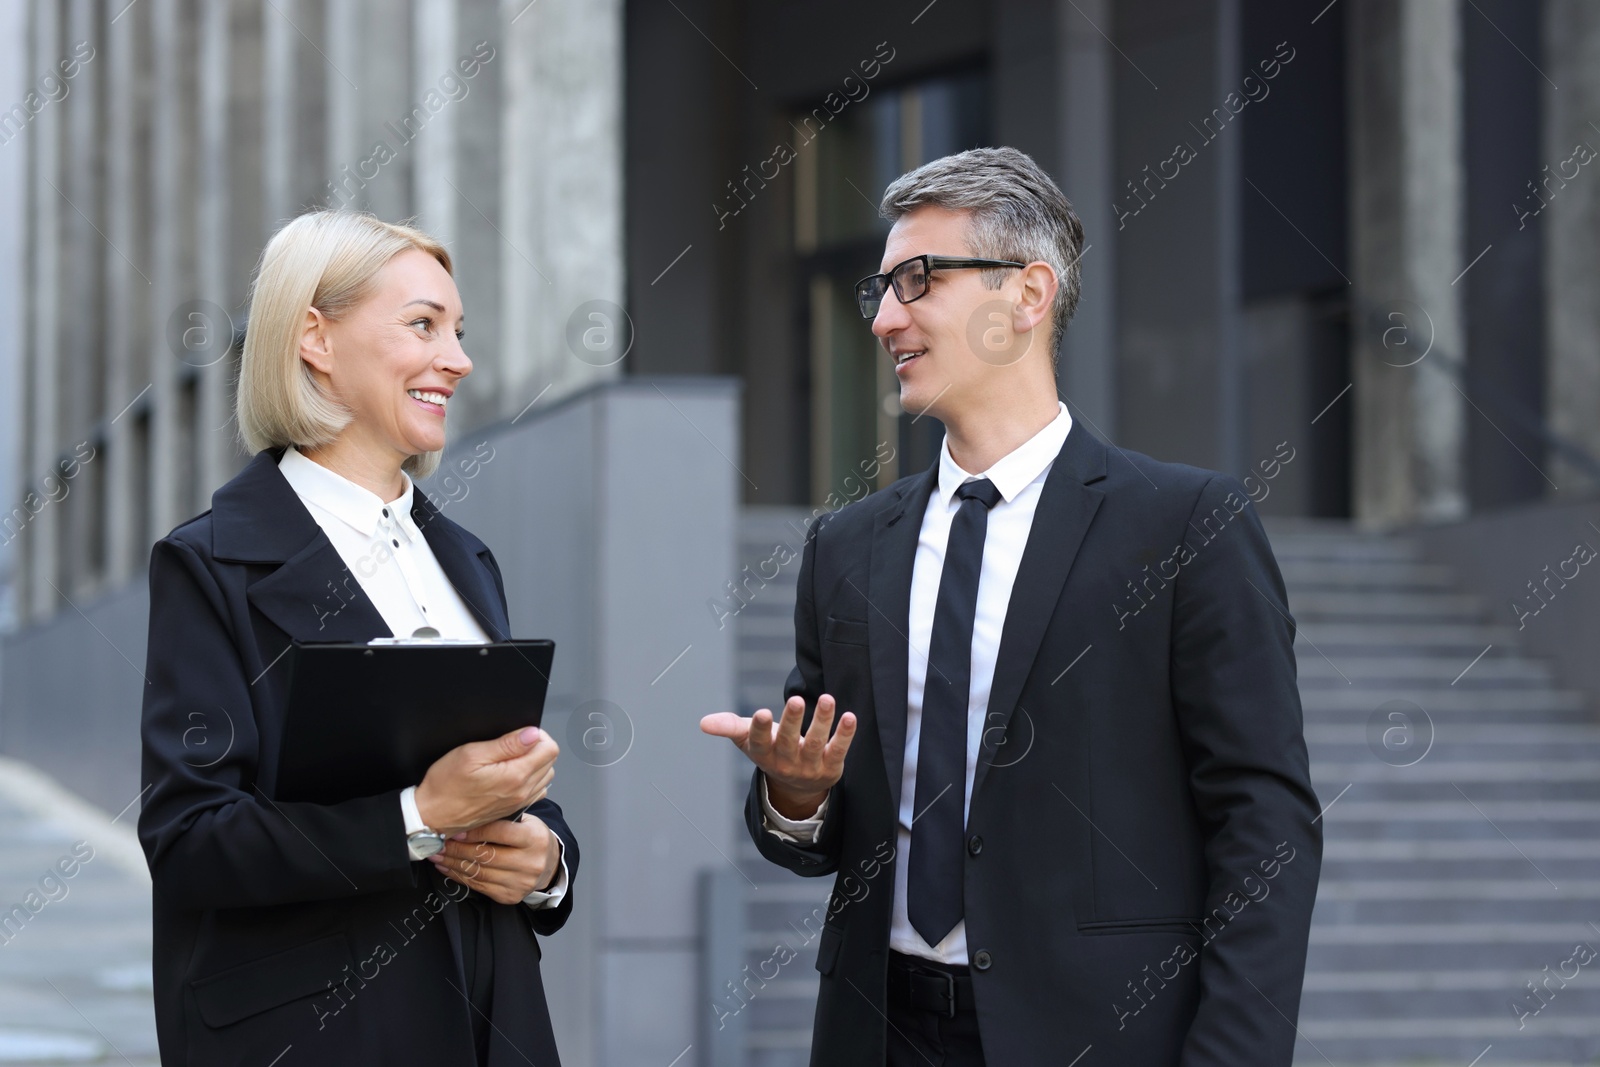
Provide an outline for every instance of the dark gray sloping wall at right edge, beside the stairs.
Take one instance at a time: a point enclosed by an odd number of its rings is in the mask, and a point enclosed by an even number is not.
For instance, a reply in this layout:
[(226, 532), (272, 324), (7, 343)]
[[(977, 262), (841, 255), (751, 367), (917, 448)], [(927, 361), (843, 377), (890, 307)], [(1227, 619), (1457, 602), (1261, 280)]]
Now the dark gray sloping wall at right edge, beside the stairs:
[(1520, 627), (1525, 651), (1552, 659), (1562, 685), (1582, 689), (1600, 710), (1600, 558), (1574, 560), (1579, 544), (1600, 553), (1600, 499), (1528, 504), (1414, 536), (1490, 601), (1496, 622)]

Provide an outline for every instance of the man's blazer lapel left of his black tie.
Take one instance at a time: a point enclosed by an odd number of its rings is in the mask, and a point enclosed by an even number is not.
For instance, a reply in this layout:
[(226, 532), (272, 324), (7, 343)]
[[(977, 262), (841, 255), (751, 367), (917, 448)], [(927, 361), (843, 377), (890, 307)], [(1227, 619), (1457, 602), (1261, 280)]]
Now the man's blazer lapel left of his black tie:
[(939, 464), (902, 490), (896, 506), (878, 514), (867, 566), (867, 645), (872, 648), (872, 709), (878, 718), (890, 795), (899, 811), (906, 766), (906, 673), (910, 669), (910, 571), (928, 498)]

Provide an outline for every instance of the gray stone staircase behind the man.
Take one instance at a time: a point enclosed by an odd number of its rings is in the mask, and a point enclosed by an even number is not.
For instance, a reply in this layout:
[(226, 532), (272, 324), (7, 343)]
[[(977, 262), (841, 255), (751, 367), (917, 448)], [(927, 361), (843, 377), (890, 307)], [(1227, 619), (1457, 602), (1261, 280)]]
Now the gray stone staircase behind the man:
[[(778, 544), (797, 553), (747, 584), (734, 621), (744, 713), (773, 705), (794, 662), (805, 517), (742, 518), (752, 573)], [(1600, 1064), (1600, 718), (1410, 539), (1304, 520), (1269, 534), (1325, 805), (1296, 1064)], [(758, 886), (752, 969), (803, 942), (746, 1008), (746, 1062), (802, 1065), (816, 993), (803, 920), (829, 880), (739, 848)]]

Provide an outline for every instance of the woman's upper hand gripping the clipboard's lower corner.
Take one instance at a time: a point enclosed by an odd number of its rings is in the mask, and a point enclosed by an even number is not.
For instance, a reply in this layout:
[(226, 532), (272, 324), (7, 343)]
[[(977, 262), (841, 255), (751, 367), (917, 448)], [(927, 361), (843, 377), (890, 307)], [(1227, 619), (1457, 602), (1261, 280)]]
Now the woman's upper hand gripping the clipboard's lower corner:
[(445, 835), (514, 816), (549, 790), (557, 755), (560, 745), (538, 726), (451, 749), (416, 787), (418, 814)]

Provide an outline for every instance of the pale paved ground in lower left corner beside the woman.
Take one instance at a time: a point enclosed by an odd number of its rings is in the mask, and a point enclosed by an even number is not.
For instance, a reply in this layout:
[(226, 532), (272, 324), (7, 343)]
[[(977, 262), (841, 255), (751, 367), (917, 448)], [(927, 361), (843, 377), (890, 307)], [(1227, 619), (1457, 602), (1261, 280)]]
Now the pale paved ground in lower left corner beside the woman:
[(0, 1064), (158, 1065), (134, 814), (0, 758)]

